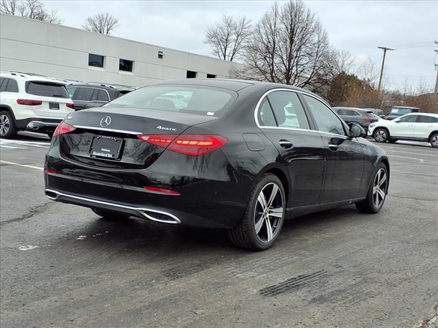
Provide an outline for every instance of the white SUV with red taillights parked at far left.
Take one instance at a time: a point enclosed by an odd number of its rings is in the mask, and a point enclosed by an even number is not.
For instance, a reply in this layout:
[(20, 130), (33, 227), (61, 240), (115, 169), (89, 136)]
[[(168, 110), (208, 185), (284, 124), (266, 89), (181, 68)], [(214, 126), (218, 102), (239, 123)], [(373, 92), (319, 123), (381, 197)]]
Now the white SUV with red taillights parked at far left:
[(20, 72), (0, 72), (0, 137), (20, 130), (47, 133), (75, 110), (64, 83)]

